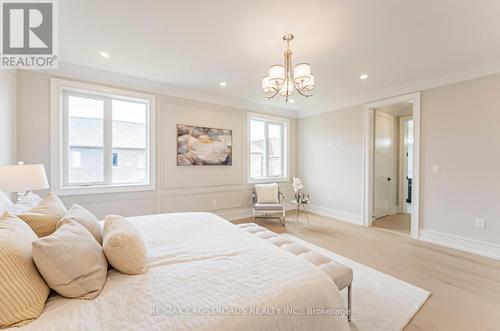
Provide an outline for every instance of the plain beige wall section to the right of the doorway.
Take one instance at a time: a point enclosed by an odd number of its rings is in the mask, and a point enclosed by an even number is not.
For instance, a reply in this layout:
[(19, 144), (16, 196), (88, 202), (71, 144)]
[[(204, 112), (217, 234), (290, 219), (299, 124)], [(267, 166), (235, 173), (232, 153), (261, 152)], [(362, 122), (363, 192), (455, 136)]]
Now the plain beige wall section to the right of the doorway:
[(425, 91), (422, 109), (423, 227), (500, 244), (500, 75)]

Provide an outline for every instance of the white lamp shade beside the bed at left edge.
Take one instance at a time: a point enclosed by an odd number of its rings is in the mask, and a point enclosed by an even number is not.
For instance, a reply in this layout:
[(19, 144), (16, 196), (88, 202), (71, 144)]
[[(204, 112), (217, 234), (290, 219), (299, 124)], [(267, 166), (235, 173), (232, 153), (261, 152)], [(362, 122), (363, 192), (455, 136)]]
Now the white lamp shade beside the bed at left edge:
[(49, 188), (43, 164), (20, 164), (0, 167), (0, 190), (24, 192)]

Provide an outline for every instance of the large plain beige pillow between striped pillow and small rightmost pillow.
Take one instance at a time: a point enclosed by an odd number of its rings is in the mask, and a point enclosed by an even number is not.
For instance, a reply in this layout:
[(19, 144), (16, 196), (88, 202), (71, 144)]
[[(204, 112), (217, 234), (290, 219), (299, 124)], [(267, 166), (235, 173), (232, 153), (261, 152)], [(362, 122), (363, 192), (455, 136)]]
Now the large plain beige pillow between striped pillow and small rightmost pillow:
[(33, 242), (33, 260), (47, 285), (67, 298), (94, 299), (108, 274), (101, 245), (70, 219), (63, 219), (50, 236)]

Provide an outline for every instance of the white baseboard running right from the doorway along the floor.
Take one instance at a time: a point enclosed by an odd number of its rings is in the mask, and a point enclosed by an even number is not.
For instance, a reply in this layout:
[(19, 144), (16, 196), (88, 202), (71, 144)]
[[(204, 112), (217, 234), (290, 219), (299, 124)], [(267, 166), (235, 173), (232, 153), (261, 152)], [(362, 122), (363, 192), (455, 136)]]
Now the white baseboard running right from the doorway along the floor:
[(420, 240), (500, 260), (500, 245), (433, 230), (420, 230)]

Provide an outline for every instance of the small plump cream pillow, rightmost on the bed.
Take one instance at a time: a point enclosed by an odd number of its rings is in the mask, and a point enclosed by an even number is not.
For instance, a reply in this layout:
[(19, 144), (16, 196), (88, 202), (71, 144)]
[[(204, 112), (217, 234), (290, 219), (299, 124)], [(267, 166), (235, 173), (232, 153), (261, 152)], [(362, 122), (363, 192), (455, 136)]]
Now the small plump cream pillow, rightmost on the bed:
[(109, 264), (116, 270), (129, 275), (146, 272), (146, 245), (139, 231), (124, 217), (106, 216), (102, 246)]

